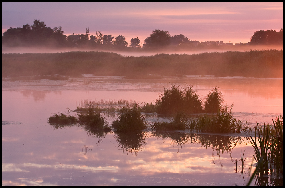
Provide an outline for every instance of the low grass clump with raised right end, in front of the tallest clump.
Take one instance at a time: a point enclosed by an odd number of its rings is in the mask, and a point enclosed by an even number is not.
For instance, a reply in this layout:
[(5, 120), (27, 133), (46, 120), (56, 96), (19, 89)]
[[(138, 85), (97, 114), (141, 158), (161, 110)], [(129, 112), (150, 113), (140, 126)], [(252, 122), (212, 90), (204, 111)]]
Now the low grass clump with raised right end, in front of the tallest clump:
[(165, 121), (163, 122), (155, 122), (151, 125), (151, 130), (156, 131), (175, 131), (175, 130), (183, 130), (188, 128), (187, 116), (185, 113), (177, 113), (177, 115), (172, 119), (170, 123)]

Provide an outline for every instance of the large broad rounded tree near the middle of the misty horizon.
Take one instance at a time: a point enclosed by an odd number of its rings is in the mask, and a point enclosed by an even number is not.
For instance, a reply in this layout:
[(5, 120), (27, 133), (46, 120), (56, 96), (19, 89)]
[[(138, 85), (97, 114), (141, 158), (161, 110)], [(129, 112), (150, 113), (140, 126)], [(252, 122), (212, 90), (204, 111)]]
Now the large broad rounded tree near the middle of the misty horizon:
[(168, 31), (156, 29), (144, 41), (143, 47), (162, 47), (170, 44), (171, 36)]

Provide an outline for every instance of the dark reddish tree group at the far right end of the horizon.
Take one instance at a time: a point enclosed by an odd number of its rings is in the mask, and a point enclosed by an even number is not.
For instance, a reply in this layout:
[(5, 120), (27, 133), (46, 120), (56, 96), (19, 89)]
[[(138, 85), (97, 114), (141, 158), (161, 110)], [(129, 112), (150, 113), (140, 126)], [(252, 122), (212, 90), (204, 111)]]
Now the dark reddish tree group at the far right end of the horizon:
[(250, 44), (254, 45), (270, 45), (270, 44), (283, 44), (283, 29), (279, 32), (273, 29), (270, 30), (258, 30), (250, 39)]

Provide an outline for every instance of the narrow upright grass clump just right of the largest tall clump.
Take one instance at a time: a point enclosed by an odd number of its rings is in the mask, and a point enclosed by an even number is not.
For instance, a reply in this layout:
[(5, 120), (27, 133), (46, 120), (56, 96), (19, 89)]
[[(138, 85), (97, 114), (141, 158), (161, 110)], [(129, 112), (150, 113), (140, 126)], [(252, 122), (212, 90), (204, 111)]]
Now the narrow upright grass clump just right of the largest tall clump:
[(210, 113), (217, 113), (223, 110), (223, 93), (219, 87), (215, 87), (210, 91), (205, 101), (205, 111)]

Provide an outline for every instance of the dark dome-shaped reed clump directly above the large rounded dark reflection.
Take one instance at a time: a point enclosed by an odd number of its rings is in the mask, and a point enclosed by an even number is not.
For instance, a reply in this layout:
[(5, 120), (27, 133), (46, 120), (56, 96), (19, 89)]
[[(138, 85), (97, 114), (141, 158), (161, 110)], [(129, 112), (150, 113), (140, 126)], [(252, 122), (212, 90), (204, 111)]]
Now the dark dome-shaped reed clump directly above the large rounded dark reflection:
[(118, 118), (112, 123), (117, 132), (142, 131), (147, 128), (145, 118), (136, 103), (131, 108), (121, 108)]

